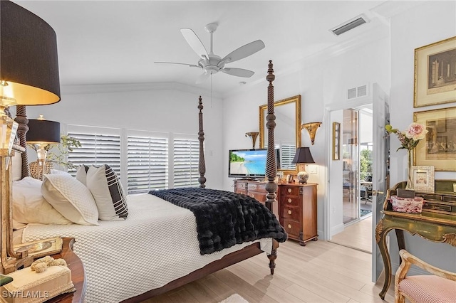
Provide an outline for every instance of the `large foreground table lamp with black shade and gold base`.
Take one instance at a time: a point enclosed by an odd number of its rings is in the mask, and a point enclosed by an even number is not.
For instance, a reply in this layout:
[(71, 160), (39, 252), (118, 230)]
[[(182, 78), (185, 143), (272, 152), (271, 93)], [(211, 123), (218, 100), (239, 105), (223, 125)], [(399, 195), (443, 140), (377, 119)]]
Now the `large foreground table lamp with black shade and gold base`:
[[(60, 82), (56, 33), (48, 23), (11, 1), (0, 1), (0, 33), (0, 127), (1, 133), (5, 134), (0, 146), (0, 272), (7, 274), (27, 265), (30, 257), (13, 250), (10, 216), (12, 176), (11, 169), (7, 166), (11, 157), (10, 141), (11, 138), (14, 140), (14, 128), (18, 129), (18, 134), (21, 130), (25, 138), (27, 119), (24, 116), (24, 123), (19, 123), (18, 126), (17, 122), (5, 115), (5, 109), (19, 105), (16, 112), (19, 112), (19, 108), (25, 112), (24, 105), (58, 102)], [(23, 140), (21, 146), (25, 147), (25, 144)]]

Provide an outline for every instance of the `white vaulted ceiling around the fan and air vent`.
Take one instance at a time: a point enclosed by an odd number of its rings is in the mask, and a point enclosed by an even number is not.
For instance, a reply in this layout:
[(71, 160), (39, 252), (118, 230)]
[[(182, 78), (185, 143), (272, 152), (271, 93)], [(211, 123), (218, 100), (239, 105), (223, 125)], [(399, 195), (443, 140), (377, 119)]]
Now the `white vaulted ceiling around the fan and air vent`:
[[(252, 78), (224, 73), (212, 77), (212, 91), (227, 95), (245, 81), (264, 81), (269, 60), (290, 67), (321, 50), (338, 49), (378, 26), (388, 26), (378, 12), (385, 1), (19, 1), (43, 18), (57, 34), (61, 85), (180, 83), (196, 85), (202, 73), (180, 28), (192, 28), (209, 51), (207, 23), (219, 24), (214, 53), (227, 55), (261, 39), (266, 47), (227, 67), (253, 70)], [(390, 1), (388, 2), (390, 3)], [(381, 4), (381, 5), (380, 5)], [(331, 28), (361, 14), (371, 22), (335, 36)]]

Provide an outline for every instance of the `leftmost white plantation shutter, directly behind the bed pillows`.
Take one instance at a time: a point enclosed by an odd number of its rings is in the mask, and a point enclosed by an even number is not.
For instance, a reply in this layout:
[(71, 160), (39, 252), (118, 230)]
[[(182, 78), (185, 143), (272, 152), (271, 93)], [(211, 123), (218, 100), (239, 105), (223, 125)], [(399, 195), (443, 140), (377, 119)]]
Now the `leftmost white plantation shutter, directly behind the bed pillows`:
[(120, 129), (68, 125), (68, 136), (81, 142), (81, 147), (68, 153), (68, 161), (76, 168), (68, 169), (73, 176), (77, 167), (108, 164), (120, 176)]

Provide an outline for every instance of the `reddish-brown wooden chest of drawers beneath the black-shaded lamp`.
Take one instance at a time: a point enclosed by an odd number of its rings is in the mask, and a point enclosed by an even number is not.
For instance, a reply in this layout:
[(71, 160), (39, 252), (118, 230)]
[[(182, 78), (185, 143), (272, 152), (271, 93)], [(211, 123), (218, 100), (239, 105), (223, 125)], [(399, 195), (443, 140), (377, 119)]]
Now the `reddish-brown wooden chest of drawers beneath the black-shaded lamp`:
[(316, 183), (278, 184), (279, 221), (290, 239), (302, 246), (318, 240)]

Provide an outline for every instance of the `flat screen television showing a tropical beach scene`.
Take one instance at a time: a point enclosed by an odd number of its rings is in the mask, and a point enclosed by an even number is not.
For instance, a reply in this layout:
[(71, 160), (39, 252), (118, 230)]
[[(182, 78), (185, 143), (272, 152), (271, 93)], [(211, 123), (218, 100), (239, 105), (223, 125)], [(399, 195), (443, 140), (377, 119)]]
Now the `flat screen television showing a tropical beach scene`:
[(261, 179), (266, 176), (267, 149), (231, 149), (228, 176), (242, 179)]

